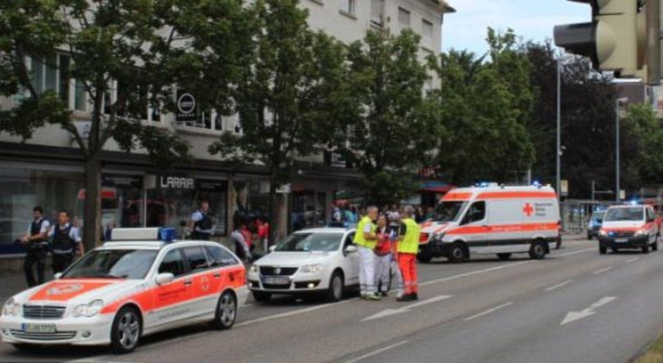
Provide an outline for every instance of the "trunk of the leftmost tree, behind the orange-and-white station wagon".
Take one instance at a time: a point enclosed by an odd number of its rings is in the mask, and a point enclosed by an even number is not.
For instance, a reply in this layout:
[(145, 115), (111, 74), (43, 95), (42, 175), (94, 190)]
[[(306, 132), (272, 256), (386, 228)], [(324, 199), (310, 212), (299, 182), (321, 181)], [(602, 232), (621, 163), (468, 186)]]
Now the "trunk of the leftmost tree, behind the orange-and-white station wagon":
[(84, 166), (85, 208), (83, 216), (83, 246), (90, 251), (102, 240), (102, 164), (97, 155), (90, 155)]

